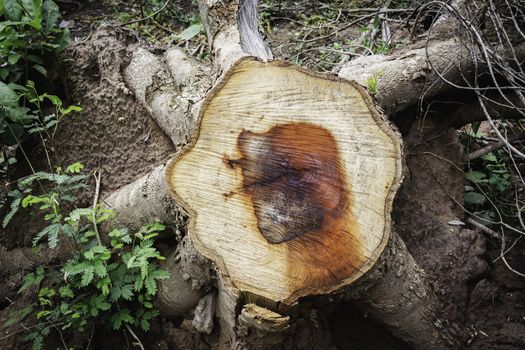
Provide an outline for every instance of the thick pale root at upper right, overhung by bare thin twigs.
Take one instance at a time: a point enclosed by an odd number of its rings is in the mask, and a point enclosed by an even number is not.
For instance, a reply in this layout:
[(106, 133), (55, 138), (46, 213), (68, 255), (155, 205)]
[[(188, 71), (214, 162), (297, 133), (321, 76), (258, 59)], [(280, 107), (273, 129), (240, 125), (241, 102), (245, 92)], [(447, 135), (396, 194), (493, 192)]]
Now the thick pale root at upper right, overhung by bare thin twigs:
[[(413, 114), (423, 114), (418, 112), (426, 108), (425, 102), (439, 102), (440, 96), (448, 102), (463, 101), (465, 93), (475, 93), (472, 106), (442, 116), (448, 124), (459, 126), (491, 118), (492, 110), (502, 114), (495, 119), (507, 118), (505, 114), (523, 118), (525, 36), (520, 19), (509, 15), (519, 6), (515, 0), (491, 1), (487, 6), (428, 1), (418, 13), (434, 11), (438, 19), (424, 40), (394, 55), (356, 58), (343, 66), (339, 75), (364, 86), (376, 80), (375, 100), (389, 117), (411, 106), (421, 109)], [(487, 29), (487, 22), (496, 36)], [(460, 98), (455, 99), (454, 94)]]

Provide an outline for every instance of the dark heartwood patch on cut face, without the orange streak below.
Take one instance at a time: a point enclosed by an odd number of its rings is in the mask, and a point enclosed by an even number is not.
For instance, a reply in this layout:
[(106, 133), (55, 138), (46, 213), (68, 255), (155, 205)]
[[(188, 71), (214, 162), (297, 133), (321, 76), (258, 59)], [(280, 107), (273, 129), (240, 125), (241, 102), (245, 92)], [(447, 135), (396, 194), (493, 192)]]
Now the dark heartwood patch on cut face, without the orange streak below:
[(269, 243), (322, 235), (348, 210), (345, 176), (330, 132), (306, 124), (278, 125), (266, 133), (243, 131), (237, 147), (243, 189)]

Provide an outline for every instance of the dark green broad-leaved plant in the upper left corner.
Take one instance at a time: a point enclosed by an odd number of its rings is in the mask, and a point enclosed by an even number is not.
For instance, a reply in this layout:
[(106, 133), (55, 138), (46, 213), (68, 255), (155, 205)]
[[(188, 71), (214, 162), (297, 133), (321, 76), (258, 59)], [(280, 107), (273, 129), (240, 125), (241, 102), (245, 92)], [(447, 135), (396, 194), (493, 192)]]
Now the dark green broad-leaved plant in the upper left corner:
[(61, 28), (59, 21), (59, 8), (51, 0), (0, 0), (2, 173), (16, 163), (15, 152), (29, 134), (54, 128), (54, 135), (59, 119), (79, 110), (77, 106), (63, 108), (57, 96), (38, 94), (30, 80), (45, 78), (46, 66), (52, 63), (49, 59), (69, 43), (69, 30)]

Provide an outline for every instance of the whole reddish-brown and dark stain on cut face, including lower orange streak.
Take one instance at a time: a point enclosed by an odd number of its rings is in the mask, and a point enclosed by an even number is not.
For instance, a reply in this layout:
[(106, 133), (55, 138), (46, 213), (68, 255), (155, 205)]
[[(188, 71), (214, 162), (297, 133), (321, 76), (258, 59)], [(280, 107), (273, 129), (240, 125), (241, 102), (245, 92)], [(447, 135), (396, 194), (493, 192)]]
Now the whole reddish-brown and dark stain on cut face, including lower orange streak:
[(286, 244), (291, 283), (327, 286), (362, 265), (350, 184), (328, 130), (282, 124), (266, 133), (243, 131), (237, 146), (242, 158), (228, 165), (242, 169), (260, 233)]

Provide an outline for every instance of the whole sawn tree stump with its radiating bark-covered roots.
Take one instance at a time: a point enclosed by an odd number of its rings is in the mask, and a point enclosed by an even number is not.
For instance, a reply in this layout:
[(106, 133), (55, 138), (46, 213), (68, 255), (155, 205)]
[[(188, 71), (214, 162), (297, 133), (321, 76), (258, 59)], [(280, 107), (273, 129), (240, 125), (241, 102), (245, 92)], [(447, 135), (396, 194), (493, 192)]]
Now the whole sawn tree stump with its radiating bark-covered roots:
[[(126, 84), (179, 152), (106, 202), (131, 227), (152, 220), (177, 223), (189, 213), (189, 235), (165, 266), (172, 277), (159, 295), (163, 313), (193, 312), (193, 325), (203, 333), (211, 332), (216, 317), (217, 348), (275, 349), (285, 347), (301, 298), (330, 296), (353, 300), (415, 348), (457, 346), (425, 273), (392, 230), (400, 137), (376, 108), (392, 116), (417, 104), (423, 90), (427, 97), (443, 93), (448, 85), (429, 68), (428, 52), (433, 67), (453, 81), (468, 73), (450, 69), (469, 62), (468, 50), (458, 51), (462, 46), (451, 39), (396, 57), (350, 62), (341, 78), (364, 84), (381, 71), (374, 106), (357, 84), (266, 63), (272, 54), (257, 31), (255, 5), (199, 1), (213, 67), (177, 48), (164, 57), (140, 46), (128, 50)], [(283, 91), (298, 94), (293, 89), (301, 84), (299, 96), (283, 98)], [(294, 137), (301, 138), (295, 146)], [(294, 157), (300, 161), (293, 163)], [(280, 167), (277, 177), (267, 174), (271, 167)], [(344, 176), (337, 174), (341, 169)], [(311, 182), (304, 180), (309, 176)], [(310, 187), (298, 186), (315, 198), (304, 204), (299, 194), (286, 193), (294, 181), (306, 181)], [(250, 207), (256, 197), (260, 203)], [(283, 216), (278, 225), (276, 213)], [(305, 231), (333, 240), (302, 237)]]

